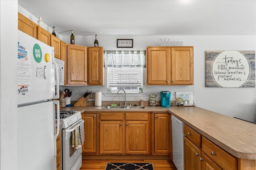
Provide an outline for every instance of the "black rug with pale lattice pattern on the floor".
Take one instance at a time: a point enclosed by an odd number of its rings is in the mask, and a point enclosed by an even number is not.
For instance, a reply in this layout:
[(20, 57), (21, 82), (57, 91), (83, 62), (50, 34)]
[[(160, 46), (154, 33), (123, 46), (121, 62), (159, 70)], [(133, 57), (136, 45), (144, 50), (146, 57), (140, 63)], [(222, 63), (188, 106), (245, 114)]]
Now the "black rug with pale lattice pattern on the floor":
[(154, 170), (152, 163), (110, 163), (105, 170)]

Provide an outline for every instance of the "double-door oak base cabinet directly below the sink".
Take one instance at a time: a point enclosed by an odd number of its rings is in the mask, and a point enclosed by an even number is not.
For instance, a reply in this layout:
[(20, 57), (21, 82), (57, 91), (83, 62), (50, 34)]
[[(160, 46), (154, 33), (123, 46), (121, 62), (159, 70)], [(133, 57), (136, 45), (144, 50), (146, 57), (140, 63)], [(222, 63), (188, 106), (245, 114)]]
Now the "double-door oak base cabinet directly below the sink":
[(100, 154), (149, 154), (148, 112), (100, 113)]

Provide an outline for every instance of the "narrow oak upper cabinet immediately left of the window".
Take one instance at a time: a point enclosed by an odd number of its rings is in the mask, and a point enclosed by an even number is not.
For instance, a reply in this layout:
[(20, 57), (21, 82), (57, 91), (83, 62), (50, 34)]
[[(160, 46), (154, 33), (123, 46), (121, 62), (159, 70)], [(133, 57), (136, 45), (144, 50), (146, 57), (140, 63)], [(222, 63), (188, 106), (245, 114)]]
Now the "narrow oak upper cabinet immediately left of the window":
[(104, 86), (103, 47), (88, 47), (88, 84)]

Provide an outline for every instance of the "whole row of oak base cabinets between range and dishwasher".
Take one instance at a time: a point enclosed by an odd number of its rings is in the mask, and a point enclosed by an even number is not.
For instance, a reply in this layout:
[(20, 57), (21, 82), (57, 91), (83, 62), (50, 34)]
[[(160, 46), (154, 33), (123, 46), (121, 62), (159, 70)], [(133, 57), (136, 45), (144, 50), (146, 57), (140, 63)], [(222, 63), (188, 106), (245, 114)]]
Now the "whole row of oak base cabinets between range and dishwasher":
[(169, 113), (83, 112), (82, 119), (83, 154), (170, 155), (172, 150)]

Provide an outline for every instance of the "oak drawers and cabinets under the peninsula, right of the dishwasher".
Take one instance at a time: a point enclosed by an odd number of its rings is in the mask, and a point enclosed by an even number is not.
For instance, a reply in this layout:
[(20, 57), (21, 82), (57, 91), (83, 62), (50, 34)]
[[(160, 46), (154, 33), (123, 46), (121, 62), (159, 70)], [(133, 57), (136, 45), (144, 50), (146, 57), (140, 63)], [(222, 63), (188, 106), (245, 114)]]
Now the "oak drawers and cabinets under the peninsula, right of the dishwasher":
[(185, 170), (238, 170), (238, 159), (184, 124)]

